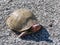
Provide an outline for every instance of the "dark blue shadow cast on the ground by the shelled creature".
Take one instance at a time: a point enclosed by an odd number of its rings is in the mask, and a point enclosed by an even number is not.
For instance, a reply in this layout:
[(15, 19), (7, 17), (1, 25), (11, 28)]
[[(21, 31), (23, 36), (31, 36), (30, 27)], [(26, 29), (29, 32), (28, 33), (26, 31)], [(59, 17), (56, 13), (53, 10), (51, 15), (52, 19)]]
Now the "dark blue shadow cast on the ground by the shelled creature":
[(25, 37), (21, 38), (23, 40), (33, 40), (36, 42), (39, 41), (47, 41), (47, 42), (53, 42), (51, 39), (49, 39), (49, 33), (47, 31), (47, 29), (42, 28), (40, 31), (30, 34), (30, 35), (26, 35)]

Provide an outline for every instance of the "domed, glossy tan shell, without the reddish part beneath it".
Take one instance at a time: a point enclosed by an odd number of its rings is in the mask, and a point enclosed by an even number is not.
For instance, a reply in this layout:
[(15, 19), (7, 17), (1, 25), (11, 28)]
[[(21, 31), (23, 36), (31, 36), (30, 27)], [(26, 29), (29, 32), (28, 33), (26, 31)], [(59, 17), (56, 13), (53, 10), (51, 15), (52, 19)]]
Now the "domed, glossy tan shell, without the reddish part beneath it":
[(33, 13), (28, 9), (18, 9), (11, 13), (6, 20), (8, 27), (18, 32), (29, 29), (36, 22)]

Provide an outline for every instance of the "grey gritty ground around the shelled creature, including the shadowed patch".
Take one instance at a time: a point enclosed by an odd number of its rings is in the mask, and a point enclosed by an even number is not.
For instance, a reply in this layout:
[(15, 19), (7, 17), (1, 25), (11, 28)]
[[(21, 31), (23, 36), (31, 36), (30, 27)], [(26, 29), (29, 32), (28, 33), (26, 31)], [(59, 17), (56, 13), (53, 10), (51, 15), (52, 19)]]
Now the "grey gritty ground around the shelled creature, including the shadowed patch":
[[(44, 28), (17, 38), (5, 21), (20, 8), (30, 9)], [(0, 0), (0, 45), (60, 45), (60, 0)]]

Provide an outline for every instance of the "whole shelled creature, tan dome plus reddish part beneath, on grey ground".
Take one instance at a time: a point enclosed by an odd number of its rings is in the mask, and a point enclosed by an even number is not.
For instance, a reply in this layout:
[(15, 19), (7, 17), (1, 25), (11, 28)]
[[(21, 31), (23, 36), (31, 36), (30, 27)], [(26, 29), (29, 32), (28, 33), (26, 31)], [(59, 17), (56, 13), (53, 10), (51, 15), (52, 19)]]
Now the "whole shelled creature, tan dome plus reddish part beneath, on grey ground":
[(32, 11), (25, 8), (12, 12), (6, 20), (6, 25), (11, 30), (20, 32), (18, 37), (37, 32), (42, 28)]

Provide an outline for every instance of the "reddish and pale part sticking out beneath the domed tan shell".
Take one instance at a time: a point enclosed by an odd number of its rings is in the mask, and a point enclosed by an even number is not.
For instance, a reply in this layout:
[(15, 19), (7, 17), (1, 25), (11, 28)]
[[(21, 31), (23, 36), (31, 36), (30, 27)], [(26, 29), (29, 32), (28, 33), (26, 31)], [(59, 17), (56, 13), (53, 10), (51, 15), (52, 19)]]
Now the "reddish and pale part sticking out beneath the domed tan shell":
[(18, 37), (24, 37), (27, 34), (35, 33), (39, 30), (41, 30), (42, 26), (40, 24), (34, 24), (32, 25), (28, 30), (23, 31)]

